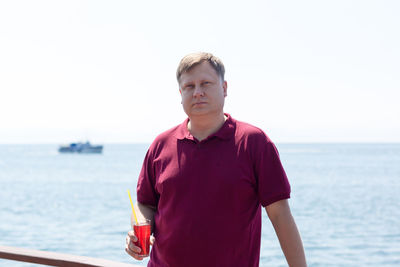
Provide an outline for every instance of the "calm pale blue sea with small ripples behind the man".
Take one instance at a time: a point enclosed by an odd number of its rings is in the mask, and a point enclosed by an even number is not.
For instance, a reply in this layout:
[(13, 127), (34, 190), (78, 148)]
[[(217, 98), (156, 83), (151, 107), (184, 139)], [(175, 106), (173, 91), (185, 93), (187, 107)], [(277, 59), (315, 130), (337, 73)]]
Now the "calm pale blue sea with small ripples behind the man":
[[(400, 144), (276, 146), (308, 266), (400, 266)], [(148, 147), (59, 154), (57, 144), (0, 145), (0, 245), (146, 266), (124, 248), (127, 190), (135, 195)], [(287, 266), (265, 212), (262, 219), (260, 266)]]

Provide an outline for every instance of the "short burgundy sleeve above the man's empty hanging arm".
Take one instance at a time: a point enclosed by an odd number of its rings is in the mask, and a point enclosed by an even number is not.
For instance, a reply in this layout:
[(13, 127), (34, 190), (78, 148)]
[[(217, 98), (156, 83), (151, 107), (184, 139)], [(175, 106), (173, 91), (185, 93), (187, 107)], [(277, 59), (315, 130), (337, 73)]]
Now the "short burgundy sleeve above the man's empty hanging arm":
[(290, 184), (283, 169), (278, 150), (264, 135), (259, 140), (255, 158), (255, 175), (258, 185), (258, 197), (266, 207), (276, 201), (290, 198)]

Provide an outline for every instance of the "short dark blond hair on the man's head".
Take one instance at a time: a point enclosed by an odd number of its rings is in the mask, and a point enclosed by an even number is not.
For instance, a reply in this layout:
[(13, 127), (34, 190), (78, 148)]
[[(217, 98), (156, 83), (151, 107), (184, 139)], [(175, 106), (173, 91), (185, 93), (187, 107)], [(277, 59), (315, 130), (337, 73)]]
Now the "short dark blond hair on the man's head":
[(198, 52), (184, 56), (179, 62), (178, 69), (176, 70), (176, 79), (178, 82), (183, 73), (205, 61), (210, 63), (211, 67), (213, 67), (213, 69), (221, 77), (222, 81), (224, 81), (225, 67), (222, 61), (211, 53)]

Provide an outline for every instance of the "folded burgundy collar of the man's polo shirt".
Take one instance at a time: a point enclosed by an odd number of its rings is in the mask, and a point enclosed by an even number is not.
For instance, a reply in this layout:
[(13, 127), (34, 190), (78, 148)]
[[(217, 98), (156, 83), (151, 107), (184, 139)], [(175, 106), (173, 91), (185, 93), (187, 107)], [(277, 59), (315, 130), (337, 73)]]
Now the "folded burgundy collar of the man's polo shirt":
[[(231, 117), (230, 114), (228, 114), (228, 113), (224, 113), (224, 114), (227, 117), (227, 119), (224, 122), (224, 124), (222, 125), (222, 127), (217, 132), (211, 134), (209, 137), (207, 137), (203, 141), (206, 141), (213, 137), (217, 137), (222, 140), (229, 140), (233, 136), (233, 134), (235, 132), (235, 128), (236, 128), (235, 120)], [(182, 124), (180, 124), (178, 126), (178, 129), (175, 134), (177, 139), (179, 139), (179, 140), (189, 139), (189, 140), (195, 141), (194, 136), (187, 129), (188, 122), (189, 122), (189, 118), (187, 118)]]

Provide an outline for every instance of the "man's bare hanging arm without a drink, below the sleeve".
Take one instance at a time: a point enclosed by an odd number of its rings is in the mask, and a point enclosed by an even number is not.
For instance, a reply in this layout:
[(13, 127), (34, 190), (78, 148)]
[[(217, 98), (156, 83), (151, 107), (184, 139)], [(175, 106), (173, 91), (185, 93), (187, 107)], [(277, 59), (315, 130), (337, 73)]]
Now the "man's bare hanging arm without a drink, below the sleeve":
[(307, 266), (303, 243), (287, 199), (265, 207), (290, 267)]

